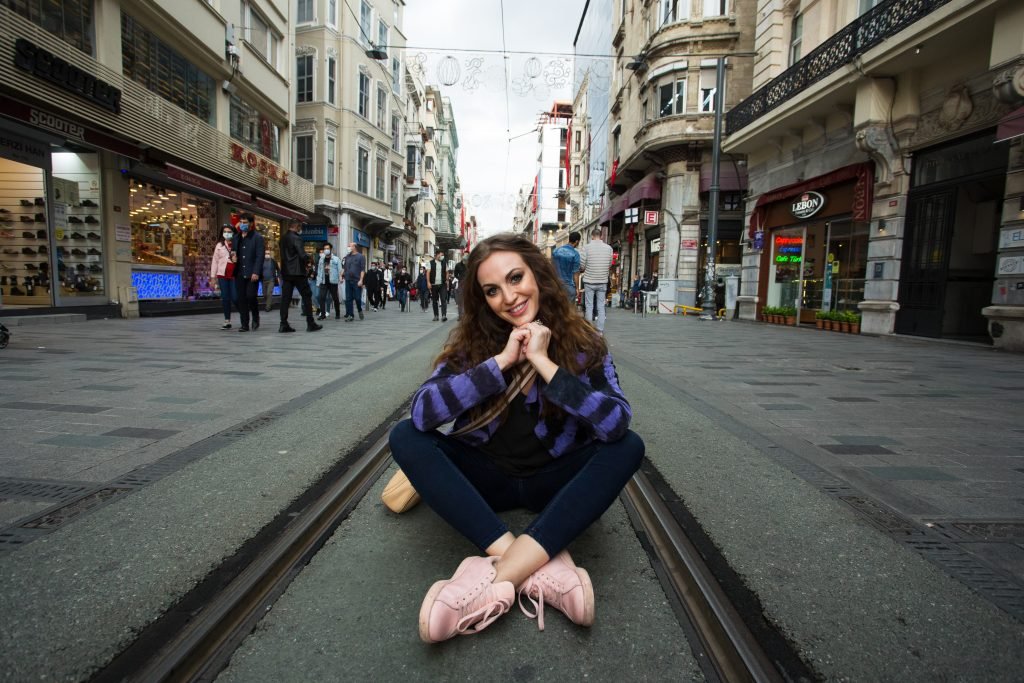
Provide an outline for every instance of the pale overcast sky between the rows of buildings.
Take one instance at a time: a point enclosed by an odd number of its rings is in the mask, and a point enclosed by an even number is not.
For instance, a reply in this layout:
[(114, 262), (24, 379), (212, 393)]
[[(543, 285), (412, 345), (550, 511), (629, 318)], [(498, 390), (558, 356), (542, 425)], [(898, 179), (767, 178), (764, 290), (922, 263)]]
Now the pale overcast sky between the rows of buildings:
[(586, 2), (504, 0), (504, 35), (502, 4), (406, 0), (406, 61), (452, 100), (466, 215), (481, 237), (510, 229), (519, 187), (532, 186), (539, 147), (524, 133), (556, 99), (572, 100), (572, 39)]

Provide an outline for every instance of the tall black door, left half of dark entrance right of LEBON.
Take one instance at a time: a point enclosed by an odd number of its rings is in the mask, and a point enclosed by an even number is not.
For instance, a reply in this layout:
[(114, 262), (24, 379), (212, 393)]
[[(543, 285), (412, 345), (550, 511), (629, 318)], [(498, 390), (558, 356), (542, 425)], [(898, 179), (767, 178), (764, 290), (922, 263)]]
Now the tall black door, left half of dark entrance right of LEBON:
[(956, 208), (954, 189), (910, 194), (899, 286), (897, 334), (942, 336), (949, 246)]

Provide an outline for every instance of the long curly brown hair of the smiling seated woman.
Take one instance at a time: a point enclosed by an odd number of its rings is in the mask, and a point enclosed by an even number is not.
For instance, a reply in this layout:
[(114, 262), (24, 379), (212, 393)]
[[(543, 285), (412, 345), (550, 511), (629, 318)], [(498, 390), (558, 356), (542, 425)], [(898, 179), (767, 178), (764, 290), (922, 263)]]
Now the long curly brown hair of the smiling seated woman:
[(573, 375), (600, 366), (607, 353), (604, 338), (569, 305), (565, 287), (551, 260), (537, 245), (515, 232), (495, 234), (473, 248), (466, 263), (466, 276), (459, 285), (463, 313), (434, 365), (446, 362), (456, 372), (464, 372), (498, 355), (508, 343), (512, 325), (490, 310), (476, 279), (480, 263), (495, 252), (519, 254), (532, 271), (541, 293), (540, 316), (551, 330), (548, 357)]

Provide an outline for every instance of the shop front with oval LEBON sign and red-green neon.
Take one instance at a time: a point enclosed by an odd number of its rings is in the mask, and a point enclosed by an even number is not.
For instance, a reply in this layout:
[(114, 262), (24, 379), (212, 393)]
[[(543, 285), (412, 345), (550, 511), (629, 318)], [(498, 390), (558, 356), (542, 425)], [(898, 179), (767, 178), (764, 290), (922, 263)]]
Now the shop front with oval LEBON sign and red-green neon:
[[(763, 195), (752, 217), (760, 246), (760, 307), (857, 311), (864, 300), (869, 168), (857, 165)], [(769, 198), (765, 201), (765, 198)]]

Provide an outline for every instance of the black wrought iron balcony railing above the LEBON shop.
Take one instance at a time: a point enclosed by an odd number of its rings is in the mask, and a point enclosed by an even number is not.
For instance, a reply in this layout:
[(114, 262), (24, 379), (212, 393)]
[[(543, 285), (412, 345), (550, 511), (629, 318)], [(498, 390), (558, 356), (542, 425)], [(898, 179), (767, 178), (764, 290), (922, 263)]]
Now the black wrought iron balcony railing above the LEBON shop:
[(818, 81), (836, 73), (887, 38), (931, 14), (951, 0), (885, 0), (840, 29), (807, 56), (725, 115), (726, 131), (751, 125)]

